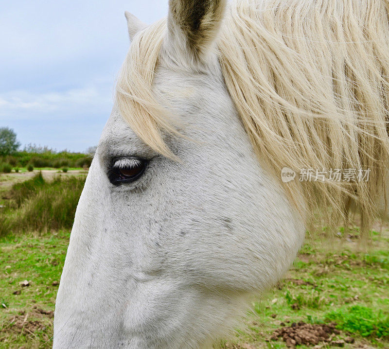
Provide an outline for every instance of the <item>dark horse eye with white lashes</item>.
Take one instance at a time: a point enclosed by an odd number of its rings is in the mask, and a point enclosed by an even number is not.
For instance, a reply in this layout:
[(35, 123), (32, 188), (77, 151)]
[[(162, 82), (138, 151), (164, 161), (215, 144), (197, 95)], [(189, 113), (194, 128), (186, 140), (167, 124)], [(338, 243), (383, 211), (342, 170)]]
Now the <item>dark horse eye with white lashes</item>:
[(112, 162), (109, 180), (112, 184), (134, 182), (143, 175), (147, 161), (137, 157), (116, 158)]

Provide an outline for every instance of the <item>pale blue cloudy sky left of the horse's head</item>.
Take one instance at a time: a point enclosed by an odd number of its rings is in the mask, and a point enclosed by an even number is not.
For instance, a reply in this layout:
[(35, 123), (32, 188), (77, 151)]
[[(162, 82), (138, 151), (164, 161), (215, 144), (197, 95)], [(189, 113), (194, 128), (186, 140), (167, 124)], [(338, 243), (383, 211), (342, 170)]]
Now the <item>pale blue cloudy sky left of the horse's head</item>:
[(168, 0), (0, 0), (0, 127), (23, 144), (97, 144), (128, 49), (124, 11), (146, 23)]

